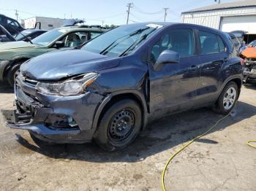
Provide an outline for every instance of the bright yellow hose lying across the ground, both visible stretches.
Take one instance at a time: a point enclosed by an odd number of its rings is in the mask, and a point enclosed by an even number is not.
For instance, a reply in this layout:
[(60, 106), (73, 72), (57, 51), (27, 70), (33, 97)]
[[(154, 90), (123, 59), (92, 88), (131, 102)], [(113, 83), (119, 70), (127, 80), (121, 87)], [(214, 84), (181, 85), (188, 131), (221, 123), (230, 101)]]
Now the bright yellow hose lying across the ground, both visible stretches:
[[(231, 110), (231, 112), (233, 112), (233, 110)], [(173, 155), (170, 156), (169, 160), (165, 164), (165, 168), (162, 170), (162, 176), (161, 176), (161, 178), (162, 178), (162, 190), (166, 191), (165, 190), (165, 171), (166, 171), (167, 166), (169, 165), (170, 161), (173, 160), (173, 158), (176, 157), (176, 155), (178, 155), (178, 153), (180, 153), (181, 151), (183, 151), (184, 149), (189, 147), (189, 145), (192, 144), (192, 142), (196, 141), (197, 139), (200, 139), (202, 136), (205, 136), (208, 132), (210, 132), (213, 128), (215, 128), (219, 124), (219, 122), (222, 122), (222, 120), (225, 120), (228, 116), (230, 116), (231, 112), (229, 112), (229, 114), (227, 114), (225, 117), (222, 117), (222, 119), (218, 120), (211, 128), (206, 130), (205, 133), (201, 134), (200, 136), (197, 136), (195, 139), (192, 139), (187, 144), (185, 144), (183, 147), (181, 147), (181, 149), (178, 149), (178, 151), (176, 151)], [(253, 145), (253, 144), (250, 144), (250, 143), (256, 143), (256, 140), (246, 142), (246, 144), (249, 145), (249, 147), (253, 147), (253, 148), (256, 149), (256, 145)]]

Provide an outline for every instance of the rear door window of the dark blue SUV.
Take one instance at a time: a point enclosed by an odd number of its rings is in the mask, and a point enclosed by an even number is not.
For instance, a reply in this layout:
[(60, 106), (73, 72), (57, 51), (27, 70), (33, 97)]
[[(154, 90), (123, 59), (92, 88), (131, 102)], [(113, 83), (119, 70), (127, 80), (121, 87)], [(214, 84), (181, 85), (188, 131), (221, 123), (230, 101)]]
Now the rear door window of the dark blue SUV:
[(202, 55), (225, 52), (225, 45), (217, 34), (199, 31), (199, 38)]

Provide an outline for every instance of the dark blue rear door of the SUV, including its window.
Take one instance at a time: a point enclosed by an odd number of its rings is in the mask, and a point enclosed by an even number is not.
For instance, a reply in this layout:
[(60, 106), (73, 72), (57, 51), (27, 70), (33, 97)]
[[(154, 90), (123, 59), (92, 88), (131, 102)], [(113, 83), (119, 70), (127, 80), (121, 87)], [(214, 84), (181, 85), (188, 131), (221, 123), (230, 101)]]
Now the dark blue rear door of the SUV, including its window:
[(200, 81), (198, 84), (198, 98), (200, 101), (213, 101), (221, 85), (221, 69), (227, 63), (229, 54), (219, 34), (199, 30), (200, 44)]

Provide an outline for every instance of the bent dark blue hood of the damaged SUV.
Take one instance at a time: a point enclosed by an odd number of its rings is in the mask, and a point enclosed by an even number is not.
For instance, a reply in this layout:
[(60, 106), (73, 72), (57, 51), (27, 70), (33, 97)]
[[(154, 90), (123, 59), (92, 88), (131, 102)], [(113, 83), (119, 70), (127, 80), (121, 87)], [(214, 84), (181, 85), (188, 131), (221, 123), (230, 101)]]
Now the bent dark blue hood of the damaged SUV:
[(20, 66), (26, 77), (38, 80), (58, 80), (91, 71), (118, 66), (120, 58), (110, 58), (85, 50), (49, 52), (32, 58)]

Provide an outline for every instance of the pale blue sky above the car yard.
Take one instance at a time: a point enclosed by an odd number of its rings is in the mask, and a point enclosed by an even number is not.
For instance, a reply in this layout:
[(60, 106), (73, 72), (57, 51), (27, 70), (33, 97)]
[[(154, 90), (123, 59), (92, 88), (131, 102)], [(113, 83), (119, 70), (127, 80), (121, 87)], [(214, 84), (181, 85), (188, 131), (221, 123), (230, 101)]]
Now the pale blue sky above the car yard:
[[(222, 2), (234, 0), (222, 0)], [(121, 25), (127, 20), (127, 4), (132, 2), (130, 21), (163, 21), (164, 7), (167, 11), (167, 21), (180, 22), (181, 12), (197, 7), (216, 4), (214, 0), (0, 0), (0, 13), (18, 19), (28, 17), (59, 17), (85, 19), (88, 24)]]

